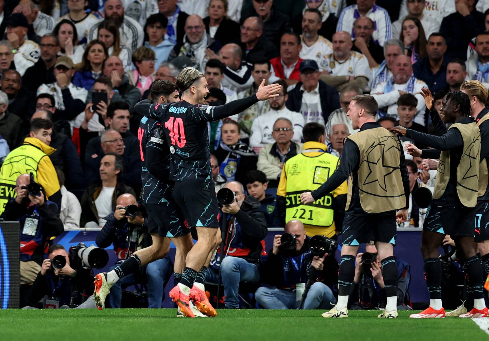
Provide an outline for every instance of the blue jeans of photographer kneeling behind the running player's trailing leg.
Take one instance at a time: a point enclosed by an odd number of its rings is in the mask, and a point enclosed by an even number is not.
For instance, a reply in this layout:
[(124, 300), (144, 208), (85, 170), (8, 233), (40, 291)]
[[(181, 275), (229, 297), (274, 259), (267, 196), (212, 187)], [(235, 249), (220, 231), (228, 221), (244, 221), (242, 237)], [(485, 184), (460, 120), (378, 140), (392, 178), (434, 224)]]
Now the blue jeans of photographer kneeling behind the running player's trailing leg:
[[(110, 270), (114, 268), (116, 266), (113, 266)], [(169, 258), (158, 259), (148, 264), (143, 271), (129, 274), (115, 282), (105, 301), (107, 308), (121, 307), (122, 287), (127, 288), (133, 284), (146, 283), (144, 272), (148, 283), (148, 308), (161, 308), (164, 284), (173, 273), (173, 264)]]

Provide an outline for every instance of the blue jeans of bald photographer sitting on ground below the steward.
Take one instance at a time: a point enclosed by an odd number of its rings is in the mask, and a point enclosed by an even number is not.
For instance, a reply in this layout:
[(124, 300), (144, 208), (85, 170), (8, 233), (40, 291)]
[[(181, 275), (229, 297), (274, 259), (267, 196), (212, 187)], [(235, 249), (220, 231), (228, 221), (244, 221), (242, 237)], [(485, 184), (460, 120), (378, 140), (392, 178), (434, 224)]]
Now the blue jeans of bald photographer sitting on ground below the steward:
[[(267, 287), (258, 288), (255, 299), (265, 309), (297, 309), (300, 303), (295, 292)], [(330, 303), (336, 303), (333, 292), (326, 284), (316, 282), (309, 289), (303, 309), (330, 309)]]

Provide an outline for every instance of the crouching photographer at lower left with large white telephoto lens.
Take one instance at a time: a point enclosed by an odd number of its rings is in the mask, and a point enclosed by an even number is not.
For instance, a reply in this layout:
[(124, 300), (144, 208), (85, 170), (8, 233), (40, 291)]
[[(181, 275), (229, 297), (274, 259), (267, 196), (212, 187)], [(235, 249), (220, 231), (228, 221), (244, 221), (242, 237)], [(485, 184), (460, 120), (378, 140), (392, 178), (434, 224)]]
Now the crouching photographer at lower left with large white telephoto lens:
[[(47, 257), (29, 290), (29, 306), (23, 309), (95, 309), (91, 267), (105, 267), (109, 261), (107, 251), (80, 243), (72, 246), (68, 255), (63, 245), (56, 244), (49, 247)], [(47, 298), (41, 304), (39, 301), (45, 295)]]

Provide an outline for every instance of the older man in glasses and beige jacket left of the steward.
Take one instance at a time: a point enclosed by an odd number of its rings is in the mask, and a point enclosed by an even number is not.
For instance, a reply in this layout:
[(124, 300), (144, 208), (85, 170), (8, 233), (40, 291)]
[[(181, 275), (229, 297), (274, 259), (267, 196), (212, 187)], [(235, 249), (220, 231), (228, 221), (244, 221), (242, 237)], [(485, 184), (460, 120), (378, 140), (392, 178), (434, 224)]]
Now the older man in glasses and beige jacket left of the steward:
[(301, 143), (292, 142), (293, 135), (292, 122), (286, 118), (279, 118), (272, 126), (275, 142), (260, 148), (257, 169), (265, 173), (270, 188), (278, 186), (285, 162), (302, 150)]

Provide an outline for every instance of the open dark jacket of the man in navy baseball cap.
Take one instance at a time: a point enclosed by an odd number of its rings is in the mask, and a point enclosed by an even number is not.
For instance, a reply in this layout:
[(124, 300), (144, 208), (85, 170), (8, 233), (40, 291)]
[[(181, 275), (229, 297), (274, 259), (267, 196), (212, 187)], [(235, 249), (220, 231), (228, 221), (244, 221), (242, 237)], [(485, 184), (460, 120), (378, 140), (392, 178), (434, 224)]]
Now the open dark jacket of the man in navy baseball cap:
[[(302, 82), (299, 82), (295, 88), (289, 91), (289, 99), (285, 103), (287, 109), (298, 113), (301, 112), (302, 93), (304, 92), (301, 90), (301, 86)], [(319, 80), (319, 97), (321, 98), (321, 110), (323, 111), (324, 122), (328, 122), (330, 114), (340, 107), (338, 91), (322, 80)]]

